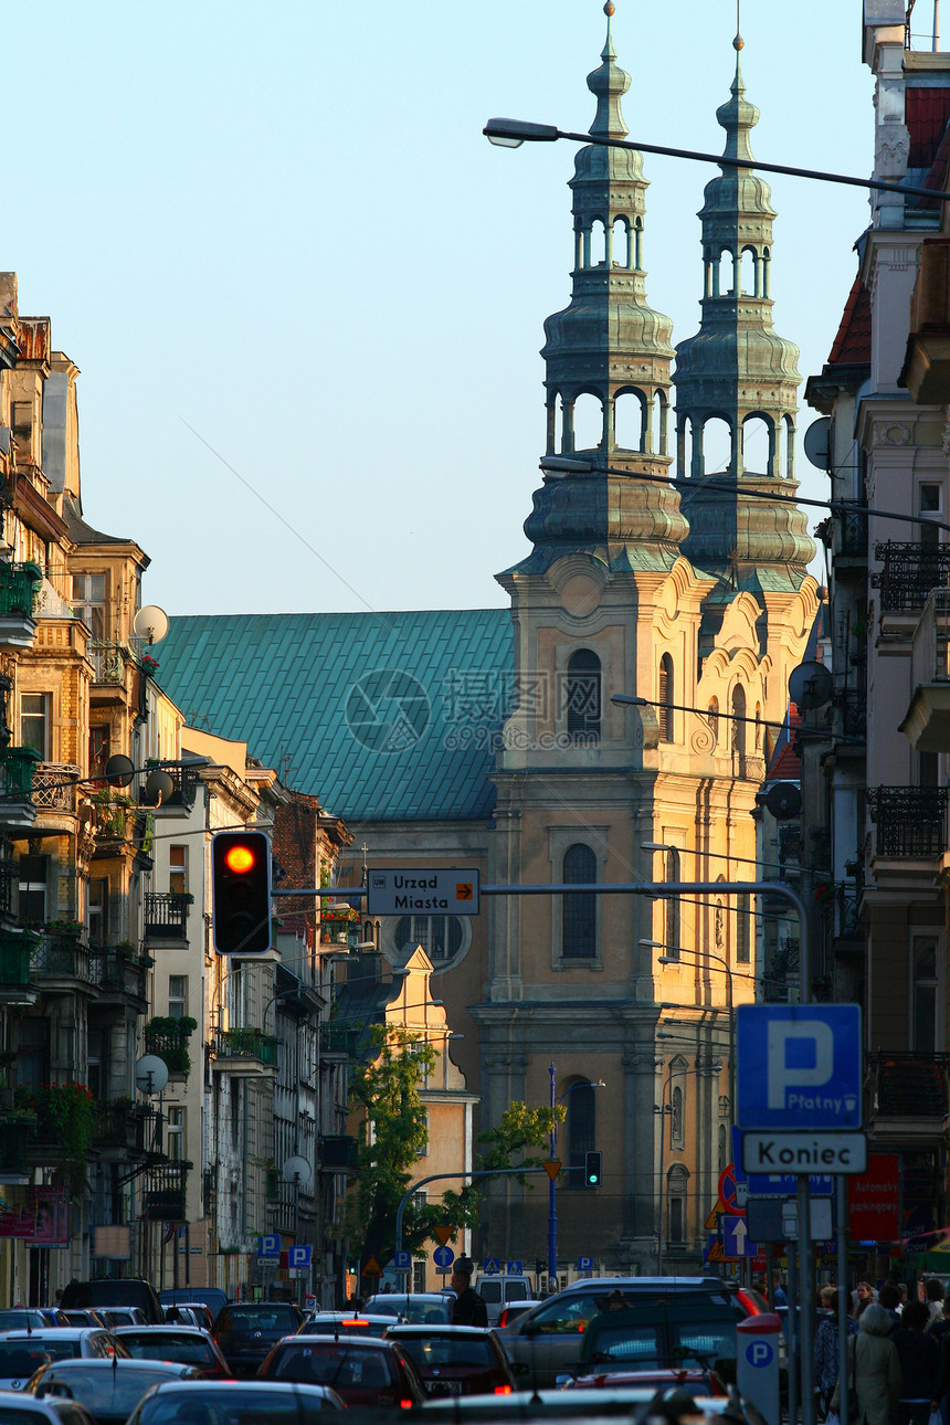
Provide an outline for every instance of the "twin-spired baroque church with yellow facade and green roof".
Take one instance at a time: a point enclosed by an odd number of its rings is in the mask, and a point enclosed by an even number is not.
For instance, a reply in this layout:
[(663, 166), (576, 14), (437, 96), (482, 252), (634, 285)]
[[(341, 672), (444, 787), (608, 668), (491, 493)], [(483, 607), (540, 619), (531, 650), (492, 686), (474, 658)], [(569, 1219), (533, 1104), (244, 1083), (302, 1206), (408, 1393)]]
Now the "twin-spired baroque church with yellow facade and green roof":
[[(647, 295), (642, 155), (604, 144), (628, 133), (630, 87), (605, 11), (570, 301), (544, 325), (531, 550), (497, 576), (510, 608), (178, 617), (161, 647), (191, 725), (246, 741), (353, 831), (348, 885), (400, 865), (487, 885), (755, 878), (756, 792), (818, 608), (789, 500), (798, 349), (772, 322), (769, 187), (743, 164), (758, 110), (736, 37), (701, 323), (674, 345)], [(726, 885), (491, 896), (369, 938), (426, 950), (479, 1127), (513, 1100), (563, 1104), (558, 1268), (698, 1268), (732, 1159), (732, 1013), (762, 975), (756, 905)], [(548, 1211), (507, 1181), (476, 1250), (547, 1261)]]

